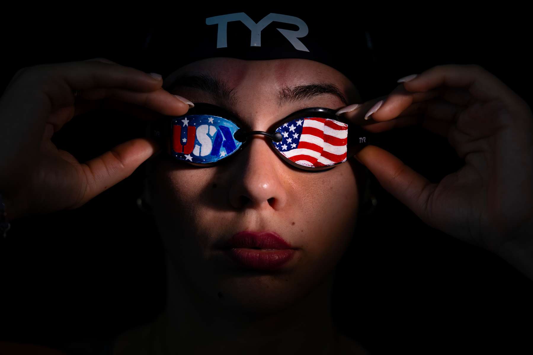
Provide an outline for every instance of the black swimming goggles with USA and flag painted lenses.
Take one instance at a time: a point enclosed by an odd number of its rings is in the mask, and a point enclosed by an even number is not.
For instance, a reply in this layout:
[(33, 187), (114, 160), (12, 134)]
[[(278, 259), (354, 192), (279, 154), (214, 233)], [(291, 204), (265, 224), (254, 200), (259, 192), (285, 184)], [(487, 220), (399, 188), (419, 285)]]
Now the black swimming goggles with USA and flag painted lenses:
[(207, 103), (180, 117), (161, 115), (151, 121), (148, 136), (168, 155), (194, 166), (227, 162), (242, 151), (253, 135), (271, 139), (279, 158), (304, 170), (324, 170), (347, 161), (368, 145), (372, 133), (328, 108), (306, 108), (289, 114), (269, 131), (253, 131), (236, 115)]

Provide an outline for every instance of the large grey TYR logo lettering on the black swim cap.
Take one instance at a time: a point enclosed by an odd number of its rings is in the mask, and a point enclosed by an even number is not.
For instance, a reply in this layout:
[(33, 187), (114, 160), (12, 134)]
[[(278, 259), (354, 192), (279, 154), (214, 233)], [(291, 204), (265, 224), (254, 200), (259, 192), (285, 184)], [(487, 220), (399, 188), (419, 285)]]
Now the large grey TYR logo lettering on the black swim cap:
[(277, 28), (282, 35), (285, 36), (296, 48), (298, 51), (309, 52), (302, 42), (298, 38), (307, 36), (309, 28), (307, 24), (302, 19), (299, 19), (295, 16), (281, 15), (278, 13), (270, 13), (266, 15), (261, 21), (255, 23), (247, 14), (244, 12), (232, 13), (228, 15), (213, 16), (205, 19), (206, 24), (219, 24), (219, 31), (216, 38), (216, 47), (223, 48), (228, 47), (228, 22), (231, 21), (240, 21), (243, 22), (246, 27), (252, 31), (252, 36), (250, 40), (250, 46), (261, 47), (261, 31), (268, 26), (271, 22), (285, 22), (290, 24), (295, 24), (298, 26), (297, 31), (285, 30), (282, 28)]

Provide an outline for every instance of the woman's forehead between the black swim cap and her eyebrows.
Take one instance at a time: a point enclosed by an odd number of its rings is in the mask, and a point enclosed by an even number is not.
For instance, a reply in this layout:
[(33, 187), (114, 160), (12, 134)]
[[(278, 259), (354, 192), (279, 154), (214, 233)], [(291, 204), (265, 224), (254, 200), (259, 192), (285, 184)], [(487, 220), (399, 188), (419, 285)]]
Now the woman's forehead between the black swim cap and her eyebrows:
[(231, 88), (257, 85), (259, 82), (274, 88), (323, 81), (335, 84), (348, 97), (355, 88), (341, 72), (328, 65), (307, 59), (274, 59), (247, 61), (235, 58), (208, 58), (185, 65), (169, 75), (163, 84), (168, 87), (184, 73), (212, 73), (228, 82)]

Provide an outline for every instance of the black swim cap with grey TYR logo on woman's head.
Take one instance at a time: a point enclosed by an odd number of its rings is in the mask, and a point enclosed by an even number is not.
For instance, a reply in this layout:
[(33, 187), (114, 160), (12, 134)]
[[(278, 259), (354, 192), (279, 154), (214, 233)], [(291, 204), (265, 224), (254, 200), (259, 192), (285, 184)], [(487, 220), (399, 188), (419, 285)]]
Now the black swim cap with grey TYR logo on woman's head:
[(374, 71), (368, 31), (342, 10), (262, 7), (264, 10), (233, 6), (181, 13), (150, 31), (143, 67), (166, 77), (183, 65), (209, 57), (301, 58), (329, 65), (356, 86)]

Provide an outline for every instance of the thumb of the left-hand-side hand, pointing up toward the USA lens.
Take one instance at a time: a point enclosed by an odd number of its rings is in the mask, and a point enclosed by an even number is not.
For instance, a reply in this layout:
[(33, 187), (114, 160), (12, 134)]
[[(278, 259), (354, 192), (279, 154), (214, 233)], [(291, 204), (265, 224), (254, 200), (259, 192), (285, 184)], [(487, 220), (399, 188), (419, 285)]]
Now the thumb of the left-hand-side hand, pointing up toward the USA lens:
[(84, 205), (94, 196), (130, 176), (159, 150), (160, 147), (156, 142), (146, 138), (135, 138), (82, 164), (87, 185), (83, 196), (71, 209)]

